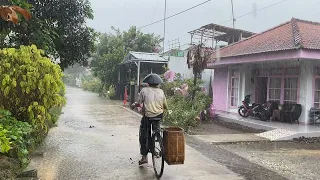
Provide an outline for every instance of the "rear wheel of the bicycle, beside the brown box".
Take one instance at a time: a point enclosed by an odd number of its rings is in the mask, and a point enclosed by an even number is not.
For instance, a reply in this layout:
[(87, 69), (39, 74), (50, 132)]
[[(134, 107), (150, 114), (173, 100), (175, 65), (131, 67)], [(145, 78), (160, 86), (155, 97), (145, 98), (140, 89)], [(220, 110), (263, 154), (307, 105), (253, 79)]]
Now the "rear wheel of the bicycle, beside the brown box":
[(164, 148), (162, 137), (159, 133), (152, 136), (152, 164), (157, 178), (161, 178), (164, 169)]

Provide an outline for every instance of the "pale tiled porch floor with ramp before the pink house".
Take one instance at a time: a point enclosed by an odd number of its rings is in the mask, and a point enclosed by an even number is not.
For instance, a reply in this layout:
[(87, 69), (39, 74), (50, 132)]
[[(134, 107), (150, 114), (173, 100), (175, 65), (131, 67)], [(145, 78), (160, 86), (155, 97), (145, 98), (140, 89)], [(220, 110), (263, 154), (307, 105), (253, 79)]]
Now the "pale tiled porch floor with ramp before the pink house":
[(260, 121), (250, 117), (243, 118), (234, 113), (218, 113), (218, 118), (227, 122), (234, 122), (255, 129), (264, 129), (267, 132), (256, 134), (272, 141), (292, 140), (299, 137), (320, 137), (320, 126), (290, 124), (281, 122)]

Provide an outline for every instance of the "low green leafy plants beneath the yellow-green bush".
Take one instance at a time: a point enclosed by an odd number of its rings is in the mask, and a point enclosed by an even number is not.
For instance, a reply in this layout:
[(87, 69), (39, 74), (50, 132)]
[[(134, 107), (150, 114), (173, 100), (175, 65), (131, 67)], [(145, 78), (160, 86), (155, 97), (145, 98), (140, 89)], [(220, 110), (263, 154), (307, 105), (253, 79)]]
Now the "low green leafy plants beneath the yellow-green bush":
[(29, 163), (29, 151), (35, 144), (32, 131), (29, 123), (18, 121), (9, 111), (0, 109), (0, 152), (18, 158), (22, 167)]

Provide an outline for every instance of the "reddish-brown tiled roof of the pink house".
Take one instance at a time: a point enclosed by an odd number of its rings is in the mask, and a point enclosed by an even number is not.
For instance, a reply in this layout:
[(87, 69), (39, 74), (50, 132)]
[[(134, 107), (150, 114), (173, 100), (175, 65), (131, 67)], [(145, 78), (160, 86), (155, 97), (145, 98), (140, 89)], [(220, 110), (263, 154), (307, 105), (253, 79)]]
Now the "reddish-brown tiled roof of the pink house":
[[(291, 49), (319, 49), (320, 23), (293, 18), (262, 33), (220, 49), (220, 58)], [(213, 54), (212, 60), (217, 55)]]

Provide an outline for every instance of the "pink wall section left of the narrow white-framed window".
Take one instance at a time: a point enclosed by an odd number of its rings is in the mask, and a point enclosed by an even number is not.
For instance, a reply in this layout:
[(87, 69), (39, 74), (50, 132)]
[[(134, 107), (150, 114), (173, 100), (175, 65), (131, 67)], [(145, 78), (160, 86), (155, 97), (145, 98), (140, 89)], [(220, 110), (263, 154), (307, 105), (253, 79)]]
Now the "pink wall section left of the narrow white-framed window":
[(213, 104), (216, 110), (227, 111), (228, 68), (216, 68), (212, 81)]

